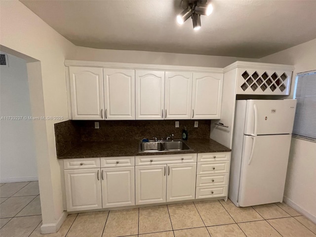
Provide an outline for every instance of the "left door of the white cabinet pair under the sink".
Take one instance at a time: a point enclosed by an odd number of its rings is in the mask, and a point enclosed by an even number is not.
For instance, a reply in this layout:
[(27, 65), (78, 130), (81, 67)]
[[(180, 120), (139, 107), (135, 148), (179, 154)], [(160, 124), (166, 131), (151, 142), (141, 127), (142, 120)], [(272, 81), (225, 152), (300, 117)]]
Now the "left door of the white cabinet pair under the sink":
[(166, 201), (166, 165), (135, 166), (136, 205)]

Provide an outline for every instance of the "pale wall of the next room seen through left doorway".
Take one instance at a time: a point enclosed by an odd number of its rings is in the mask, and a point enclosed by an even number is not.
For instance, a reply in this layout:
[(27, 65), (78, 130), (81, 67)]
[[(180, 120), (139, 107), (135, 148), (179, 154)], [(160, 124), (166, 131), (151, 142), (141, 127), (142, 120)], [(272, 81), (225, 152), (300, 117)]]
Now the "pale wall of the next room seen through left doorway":
[(0, 115), (22, 120), (0, 120), (0, 182), (38, 180), (35, 134), (32, 120), (26, 61), (12, 55), (0, 66)]

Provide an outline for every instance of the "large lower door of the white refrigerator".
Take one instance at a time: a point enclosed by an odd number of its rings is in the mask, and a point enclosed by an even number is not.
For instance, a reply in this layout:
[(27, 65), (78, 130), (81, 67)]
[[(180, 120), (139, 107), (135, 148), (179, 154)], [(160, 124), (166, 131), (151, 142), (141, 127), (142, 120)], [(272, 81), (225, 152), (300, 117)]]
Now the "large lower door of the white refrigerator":
[(239, 206), (282, 201), (291, 135), (244, 136), (243, 141)]

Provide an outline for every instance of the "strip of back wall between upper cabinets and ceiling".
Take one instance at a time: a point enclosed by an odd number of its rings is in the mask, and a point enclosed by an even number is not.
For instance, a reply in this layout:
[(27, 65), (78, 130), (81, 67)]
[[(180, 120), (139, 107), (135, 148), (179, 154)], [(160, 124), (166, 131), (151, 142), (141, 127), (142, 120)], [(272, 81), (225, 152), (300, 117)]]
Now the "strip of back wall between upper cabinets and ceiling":
[(140, 63), (174, 66), (196, 66), (223, 68), (231, 63), (239, 61), (258, 62), (258, 59), (209, 56), (181, 53), (163, 53), (132, 50), (95, 49), (76, 47), (73, 60), (116, 62), (116, 63)]

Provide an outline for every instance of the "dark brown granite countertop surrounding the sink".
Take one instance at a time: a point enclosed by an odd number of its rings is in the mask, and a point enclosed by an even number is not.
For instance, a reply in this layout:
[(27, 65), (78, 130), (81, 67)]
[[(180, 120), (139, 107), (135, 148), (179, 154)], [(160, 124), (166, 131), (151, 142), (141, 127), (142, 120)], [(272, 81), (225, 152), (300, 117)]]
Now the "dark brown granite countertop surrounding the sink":
[(173, 155), (187, 153), (230, 152), (231, 149), (215, 142), (212, 139), (192, 139), (186, 141), (193, 151), (181, 152), (138, 152), (138, 140), (108, 141), (108, 142), (82, 142), (69, 151), (58, 156), (59, 159), (69, 158), (94, 158), (94, 157), (128, 157), (148, 155)]

